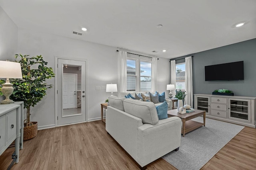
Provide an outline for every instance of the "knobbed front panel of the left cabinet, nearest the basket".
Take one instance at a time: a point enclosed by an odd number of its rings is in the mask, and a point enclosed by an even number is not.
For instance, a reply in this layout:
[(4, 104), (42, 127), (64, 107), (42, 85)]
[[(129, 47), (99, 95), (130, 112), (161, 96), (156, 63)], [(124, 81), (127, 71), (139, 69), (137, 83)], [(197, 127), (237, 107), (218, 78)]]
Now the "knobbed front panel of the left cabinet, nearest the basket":
[(14, 109), (6, 114), (6, 144), (16, 136), (16, 119), (17, 119), (17, 110)]

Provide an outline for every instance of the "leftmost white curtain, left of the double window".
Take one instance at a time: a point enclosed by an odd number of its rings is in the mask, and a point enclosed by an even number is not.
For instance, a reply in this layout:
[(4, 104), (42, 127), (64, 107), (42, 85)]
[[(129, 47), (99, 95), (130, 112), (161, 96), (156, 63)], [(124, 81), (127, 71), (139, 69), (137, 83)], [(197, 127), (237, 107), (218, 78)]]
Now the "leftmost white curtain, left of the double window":
[(126, 60), (127, 53), (124, 51), (118, 52), (118, 91), (126, 92)]

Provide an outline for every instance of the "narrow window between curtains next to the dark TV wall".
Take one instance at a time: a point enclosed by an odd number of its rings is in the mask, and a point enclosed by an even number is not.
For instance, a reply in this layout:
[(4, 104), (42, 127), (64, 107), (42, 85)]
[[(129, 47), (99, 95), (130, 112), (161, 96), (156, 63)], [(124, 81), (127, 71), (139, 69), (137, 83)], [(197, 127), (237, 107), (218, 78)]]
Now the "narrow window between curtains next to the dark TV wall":
[(176, 90), (185, 90), (185, 63), (176, 64)]

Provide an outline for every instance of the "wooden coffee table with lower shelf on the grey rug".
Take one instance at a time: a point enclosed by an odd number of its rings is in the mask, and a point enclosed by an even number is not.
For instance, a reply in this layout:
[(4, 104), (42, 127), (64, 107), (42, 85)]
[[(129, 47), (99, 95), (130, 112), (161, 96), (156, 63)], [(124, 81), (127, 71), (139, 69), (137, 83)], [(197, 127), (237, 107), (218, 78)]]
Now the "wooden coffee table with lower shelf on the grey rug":
[[(181, 133), (183, 137), (185, 137), (185, 134), (193, 131), (194, 129), (197, 129), (198, 127), (201, 127), (202, 125), (205, 126), (205, 115), (206, 111), (205, 110), (198, 110), (195, 109), (195, 111), (191, 113), (185, 113), (185, 114), (179, 114), (178, 109), (173, 109), (173, 110), (168, 110), (167, 112), (168, 117), (172, 116), (178, 116), (182, 120), (182, 129)], [(197, 121), (192, 121), (191, 119), (194, 119), (195, 117), (204, 115), (204, 123), (199, 123)]]

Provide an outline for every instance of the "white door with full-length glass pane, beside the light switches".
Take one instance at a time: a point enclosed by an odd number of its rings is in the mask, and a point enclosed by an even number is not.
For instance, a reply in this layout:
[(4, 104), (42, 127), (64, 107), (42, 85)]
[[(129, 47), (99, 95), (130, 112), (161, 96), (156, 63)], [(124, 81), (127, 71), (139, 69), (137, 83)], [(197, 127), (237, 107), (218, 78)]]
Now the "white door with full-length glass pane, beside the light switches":
[[(57, 67), (58, 126), (86, 121), (86, 62), (58, 59)], [(77, 74), (77, 77), (71, 78), (72, 76), (67, 76), (66, 74)], [(67, 77), (69, 77), (70, 80), (67, 80)], [(76, 79), (76, 85), (73, 79)], [(75, 100), (77, 102), (74, 102)], [(72, 106), (72, 108), (68, 105)]]

